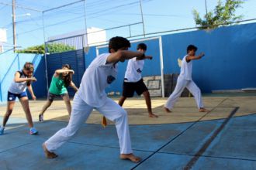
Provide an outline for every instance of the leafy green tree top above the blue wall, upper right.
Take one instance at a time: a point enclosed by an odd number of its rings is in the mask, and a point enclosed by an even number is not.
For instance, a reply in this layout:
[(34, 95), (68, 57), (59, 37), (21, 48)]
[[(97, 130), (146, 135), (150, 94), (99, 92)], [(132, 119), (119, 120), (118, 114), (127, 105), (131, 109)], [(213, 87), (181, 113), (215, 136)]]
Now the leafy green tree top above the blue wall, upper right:
[(230, 26), (232, 22), (237, 22), (243, 18), (243, 15), (235, 15), (236, 9), (241, 7), (243, 0), (226, 0), (223, 5), (221, 0), (218, 1), (213, 12), (207, 12), (203, 19), (200, 18), (199, 12), (193, 9), (195, 24), (200, 26), (199, 29), (215, 29), (219, 26)]

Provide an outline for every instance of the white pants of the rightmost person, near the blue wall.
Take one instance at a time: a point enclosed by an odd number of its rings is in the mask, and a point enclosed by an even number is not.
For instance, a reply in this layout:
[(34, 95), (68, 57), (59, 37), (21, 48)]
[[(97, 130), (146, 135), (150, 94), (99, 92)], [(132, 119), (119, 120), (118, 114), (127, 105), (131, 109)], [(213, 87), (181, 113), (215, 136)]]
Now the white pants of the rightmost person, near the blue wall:
[(193, 80), (185, 80), (180, 77), (178, 77), (175, 90), (171, 93), (171, 96), (168, 98), (166, 104), (164, 104), (164, 107), (171, 110), (174, 107), (175, 102), (178, 100), (178, 97), (182, 95), (182, 92), (185, 89), (185, 87), (187, 87), (190, 93), (193, 94), (197, 107), (202, 108), (203, 107), (202, 95), (199, 87), (196, 86)]

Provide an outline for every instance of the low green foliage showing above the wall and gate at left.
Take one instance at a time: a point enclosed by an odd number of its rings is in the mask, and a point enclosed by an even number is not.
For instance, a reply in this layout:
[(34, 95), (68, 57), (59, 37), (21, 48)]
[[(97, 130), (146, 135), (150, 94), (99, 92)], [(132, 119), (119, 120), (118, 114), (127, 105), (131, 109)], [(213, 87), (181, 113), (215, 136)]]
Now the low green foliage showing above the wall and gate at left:
[[(26, 49), (16, 50), (16, 53), (40, 53), (44, 54), (44, 44), (40, 46), (30, 46)], [(61, 53), (65, 51), (75, 50), (74, 46), (68, 46), (61, 43), (47, 44), (47, 53)]]

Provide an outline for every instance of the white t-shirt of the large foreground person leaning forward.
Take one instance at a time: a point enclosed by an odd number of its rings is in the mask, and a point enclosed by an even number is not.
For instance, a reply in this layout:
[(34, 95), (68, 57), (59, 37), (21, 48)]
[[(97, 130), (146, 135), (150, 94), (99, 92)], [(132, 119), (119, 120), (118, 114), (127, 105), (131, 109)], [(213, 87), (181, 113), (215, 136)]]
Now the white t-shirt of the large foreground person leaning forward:
[(81, 79), (78, 95), (92, 107), (102, 107), (106, 102), (105, 88), (116, 80), (117, 63), (106, 64), (110, 53), (97, 56), (85, 70)]

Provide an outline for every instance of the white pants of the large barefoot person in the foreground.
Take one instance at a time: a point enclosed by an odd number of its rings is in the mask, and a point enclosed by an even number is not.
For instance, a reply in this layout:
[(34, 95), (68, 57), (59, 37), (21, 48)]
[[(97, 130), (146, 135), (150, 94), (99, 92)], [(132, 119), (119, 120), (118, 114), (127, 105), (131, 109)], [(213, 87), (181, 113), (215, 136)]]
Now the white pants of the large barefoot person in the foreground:
[[(73, 100), (73, 107), (71, 111), (71, 118), (66, 128), (57, 131), (54, 136), (45, 141), (48, 151), (54, 151), (61, 147), (66, 141), (74, 137), (74, 134), (85, 123), (88, 116), (91, 114), (94, 107), (89, 106), (84, 100), (75, 94)], [(121, 154), (133, 153), (130, 142), (130, 131), (127, 120), (127, 113), (123, 107), (116, 104), (110, 98), (106, 99), (106, 103), (102, 107), (95, 108), (101, 114), (104, 114), (109, 120), (116, 122), (116, 131), (119, 138), (119, 146)], [(104, 141), (102, 141), (104, 142)]]

